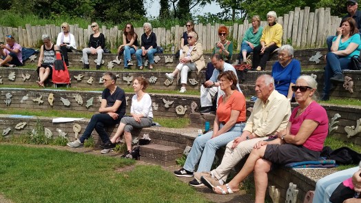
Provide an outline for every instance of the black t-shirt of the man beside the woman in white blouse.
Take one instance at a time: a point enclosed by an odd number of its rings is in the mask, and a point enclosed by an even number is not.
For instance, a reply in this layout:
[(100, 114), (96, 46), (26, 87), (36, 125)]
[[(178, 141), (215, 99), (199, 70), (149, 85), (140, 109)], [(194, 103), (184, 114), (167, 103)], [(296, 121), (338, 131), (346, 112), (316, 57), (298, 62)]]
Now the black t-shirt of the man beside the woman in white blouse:
[(121, 101), (121, 106), (115, 111), (118, 114), (118, 118), (123, 118), (125, 114), (125, 108), (127, 107), (125, 103), (125, 92), (120, 87), (116, 87), (113, 94), (110, 94), (110, 89), (104, 89), (101, 94), (101, 98), (107, 100), (107, 107), (112, 107), (116, 100)]

